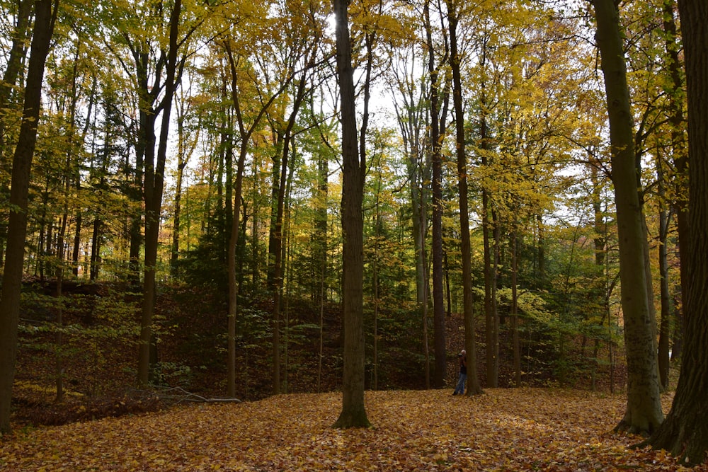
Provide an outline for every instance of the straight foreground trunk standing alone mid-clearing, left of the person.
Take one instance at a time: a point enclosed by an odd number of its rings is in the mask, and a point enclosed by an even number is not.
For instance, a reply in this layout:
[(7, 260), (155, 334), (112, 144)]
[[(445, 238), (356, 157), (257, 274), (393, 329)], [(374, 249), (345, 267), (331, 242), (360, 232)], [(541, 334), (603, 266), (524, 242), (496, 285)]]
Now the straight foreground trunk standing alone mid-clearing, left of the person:
[(364, 405), (363, 217), (365, 162), (357, 149), (354, 79), (349, 38), (348, 1), (334, 0), (337, 74), (342, 125), (342, 232), (344, 372), (342, 411), (334, 427), (368, 427)]

